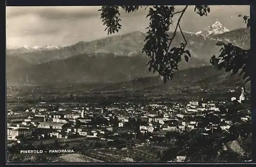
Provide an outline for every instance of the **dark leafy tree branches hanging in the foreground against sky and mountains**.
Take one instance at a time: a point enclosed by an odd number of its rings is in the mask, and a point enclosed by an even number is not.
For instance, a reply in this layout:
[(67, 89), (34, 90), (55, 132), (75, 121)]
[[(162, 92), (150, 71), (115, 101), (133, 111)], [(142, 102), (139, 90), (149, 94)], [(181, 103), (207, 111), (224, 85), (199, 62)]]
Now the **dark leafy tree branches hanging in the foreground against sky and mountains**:
[[(164, 83), (167, 80), (172, 80), (174, 77), (174, 72), (178, 70), (178, 65), (181, 60), (185, 59), (188, 62), (191, 54), (188, 50), (185, 50), (187, 45), (186, 38), (182, 32), (180, 21), (187, 10), (187, 6), (181, 11), (176, 11), (175, 6), (102, 6), (99, 11), (101, 11), (101, 20), (103, 25), (106, 25), (105, 31), (109, 34), (114, 34), (121, 29), (119, 18), (119, 8), (127, 13), (134, 12), (139, 8), (149, 8), (146, 17), (150, 18), (150, 22), (146, 29), (148, 30), (145, 37), (145, 44), (142, 48), (142, 52), (145, 52), (150, 61), (148, 61), (148, 70), (155, 73), (156, 71), (160, 76), (163, 77)], [(210, 8), (207, 5), (196, 5), (194, 11), (199, 14), (199, 16), (207, 16), (210, 12)], [(169, 31), (169, 26), (173, 24), (173, 17), (175, 15), (180, 15), (175, 25), (175, 31), (172, 37), (170, 37), (167, 32)], [(250, 17), (242, 16), (244, 22), (247, 24), (247, 28), (250, 27)], [(172, 41), (176, 36), (177, 30), (180, 30), (184, 42), (181, 42), (180, 47), (171, 47)], [(217, 69), (225, 69), (226, 72), (232, 71), (232, 74), (239, 73), (243, 74), (245, 83), (250, 81), (250, 63), (248, 62), (248, 55), (250, 50), (245, 50), (240, 47), (234, 46), (231, 43), (218, 42), (216, 45), (222, 46), (221, 53), (218, 57), (216, 55), (212, 56), (210, 63)], [(245, 84), (244, 83), (244, 84)]]

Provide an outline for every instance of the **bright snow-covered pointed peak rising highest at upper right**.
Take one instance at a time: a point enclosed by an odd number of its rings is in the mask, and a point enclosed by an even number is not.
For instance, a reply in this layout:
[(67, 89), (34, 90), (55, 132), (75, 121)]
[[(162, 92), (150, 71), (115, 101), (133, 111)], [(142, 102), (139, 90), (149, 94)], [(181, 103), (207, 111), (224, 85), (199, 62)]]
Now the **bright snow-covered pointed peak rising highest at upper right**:
[(214, 24), (206, 27), (203, 31), (199, 31), (196, 34), (201, 34), (205, 37), (208, 37), (225, 32), (229, 32), (229, 30), (220, 21), (216, 21)]

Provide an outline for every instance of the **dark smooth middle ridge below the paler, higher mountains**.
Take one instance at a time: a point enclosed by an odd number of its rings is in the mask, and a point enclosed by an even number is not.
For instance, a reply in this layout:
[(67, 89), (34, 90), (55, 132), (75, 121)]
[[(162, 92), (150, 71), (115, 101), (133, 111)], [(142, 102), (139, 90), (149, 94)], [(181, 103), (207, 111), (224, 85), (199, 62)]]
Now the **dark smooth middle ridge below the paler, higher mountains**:
[[(79, 54), (65, 60), (56, 60), (40, 65), (27, 66), (20, 70), (8, 71), (7, 85), (19, 84), (59, 84), (60, 82), (120, 82), (134, 78), (156, 76), (148, 71), (147, 57), (116, 56), (114, 54), (97, 54), (89, 56)], [(207, 64), (196, 58), (189, 63), (182, 61), (180, 70)]]

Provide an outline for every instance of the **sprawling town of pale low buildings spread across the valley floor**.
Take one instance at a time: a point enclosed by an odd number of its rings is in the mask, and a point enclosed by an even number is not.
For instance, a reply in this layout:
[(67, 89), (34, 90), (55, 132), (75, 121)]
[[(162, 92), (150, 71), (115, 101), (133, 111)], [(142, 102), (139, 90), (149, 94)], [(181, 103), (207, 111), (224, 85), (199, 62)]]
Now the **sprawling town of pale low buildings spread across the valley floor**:
[[(233, 128), (238, 123), (251, 123), (251, 108), (243, 107), (246, 101), (242, 88), (238, 98), (226, 101), (114, 102), (109, 106), (39, 102), (26, 110), (9, 108), (8, 154), (11, 159), (19, 150), (56, 147), (73, 149), (89, 162), (197, 161), (193, 159), (195, 153), (189, 151), (196, 144), (188, 142), (196, 134), (205, 141), (220, 134), (220, 146), (216, 144), (220, 148), (243, 133), (250, 134), (249, 129), (243, 129), (235, 136), (239, 130)], [(218, 154), (221, 156), (220, 151)]]

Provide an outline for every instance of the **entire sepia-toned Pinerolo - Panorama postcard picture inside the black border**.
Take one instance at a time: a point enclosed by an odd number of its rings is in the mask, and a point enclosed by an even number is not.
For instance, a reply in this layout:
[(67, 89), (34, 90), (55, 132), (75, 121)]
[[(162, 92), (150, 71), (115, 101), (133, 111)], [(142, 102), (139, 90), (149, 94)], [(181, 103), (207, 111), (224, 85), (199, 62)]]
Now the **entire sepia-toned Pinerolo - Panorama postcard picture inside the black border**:
[(250, 6), (6, 7), (7, 163), (250, 162)]

